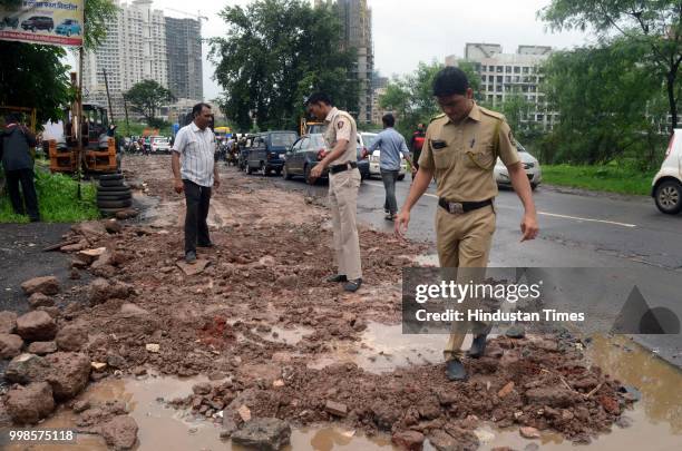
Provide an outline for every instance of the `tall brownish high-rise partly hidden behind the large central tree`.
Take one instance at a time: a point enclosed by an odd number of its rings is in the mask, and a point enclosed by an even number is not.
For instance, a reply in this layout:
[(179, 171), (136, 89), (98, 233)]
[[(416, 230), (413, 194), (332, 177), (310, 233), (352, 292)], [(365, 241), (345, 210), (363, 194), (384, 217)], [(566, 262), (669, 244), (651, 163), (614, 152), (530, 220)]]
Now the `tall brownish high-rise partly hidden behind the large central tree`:
[[(332, 3), (315, 0), (315, 6)], [(374, 49), (372, 43), (372, 10), (367, 0), (335, 0), (335, 11), (341, 20), (341, 41), (347, 49), (355, 49), (358, 60), (353, 65), (353, 77), (360, 84), (357, 114), (359, 122), (372, 121)]]

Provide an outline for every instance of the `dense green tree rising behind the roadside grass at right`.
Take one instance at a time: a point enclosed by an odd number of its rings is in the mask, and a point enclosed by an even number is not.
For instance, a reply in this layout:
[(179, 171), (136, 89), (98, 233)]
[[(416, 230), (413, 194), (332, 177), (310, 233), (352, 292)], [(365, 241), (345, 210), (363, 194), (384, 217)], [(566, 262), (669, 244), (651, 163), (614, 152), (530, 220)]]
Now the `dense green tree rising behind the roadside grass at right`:
[(620, 38), (554, 53), (544, 67), (551, 109), (561, 111), (543, 154), (553, 163), (656, 163), (665, 99), (641, 61), (649, 49)]

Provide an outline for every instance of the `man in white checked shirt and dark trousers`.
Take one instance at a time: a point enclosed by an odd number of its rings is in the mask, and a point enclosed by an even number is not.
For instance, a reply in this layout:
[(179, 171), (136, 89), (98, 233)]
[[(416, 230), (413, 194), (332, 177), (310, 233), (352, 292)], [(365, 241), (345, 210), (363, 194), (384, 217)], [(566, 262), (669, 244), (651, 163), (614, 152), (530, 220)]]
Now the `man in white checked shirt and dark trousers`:
[(208, 236), (211, 190), (221, 185), (215, 164), (215, 135), (208, 125), (211, 106), (197, 104), (192, 109), (194, 120), (181, 128), (173, 144), (175, 192), (185, 192), (185, 261), (196, 262), (196, 247), (213, 247)]

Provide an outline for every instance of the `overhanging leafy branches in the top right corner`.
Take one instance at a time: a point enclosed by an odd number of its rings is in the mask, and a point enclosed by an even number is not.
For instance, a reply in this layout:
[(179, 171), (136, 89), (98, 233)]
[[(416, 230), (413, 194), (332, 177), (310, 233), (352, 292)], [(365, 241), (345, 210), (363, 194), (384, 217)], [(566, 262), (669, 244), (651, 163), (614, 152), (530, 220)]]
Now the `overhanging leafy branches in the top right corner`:
[(665, 86), (670, 129), (678, 124), (679, 75), (682, 63), (682, 3), (679, 0), (552, 0), (539, 12), (554, 29), (592, 27), (602, 42), (624, 37), (646, 51), (649, 66)]

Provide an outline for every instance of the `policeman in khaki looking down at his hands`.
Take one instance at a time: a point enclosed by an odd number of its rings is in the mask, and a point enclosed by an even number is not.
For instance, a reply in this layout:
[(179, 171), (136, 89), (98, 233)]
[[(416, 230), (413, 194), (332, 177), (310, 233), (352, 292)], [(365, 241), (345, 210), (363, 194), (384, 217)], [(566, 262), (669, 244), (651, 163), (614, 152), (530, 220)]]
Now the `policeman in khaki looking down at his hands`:
[(308, 110), (325, 124), (324, 140), (331, 151), (312, 168), (310, 178), (319, 178), (329, 168), (329, 200), (332, 212), (333, 247), (339, 271), (327, 282), (344, 283), (343, 288), (355, 292), (362, 284), (360, 241), (355, 224), (358, 188), (358, 128), (345, 111), (332, 107), (330, 98), (321, 92), (310, 96)]

